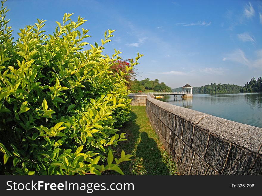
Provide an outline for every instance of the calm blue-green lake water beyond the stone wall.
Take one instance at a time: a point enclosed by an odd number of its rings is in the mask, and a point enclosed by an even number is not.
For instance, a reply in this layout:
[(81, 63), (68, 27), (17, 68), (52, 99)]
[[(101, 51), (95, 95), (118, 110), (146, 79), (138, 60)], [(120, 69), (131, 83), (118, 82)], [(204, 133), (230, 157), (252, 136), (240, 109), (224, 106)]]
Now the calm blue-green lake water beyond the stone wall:
[(168, 95), (159, 100), (262, 128), (262, 93), (193, 93), (193, 98)]

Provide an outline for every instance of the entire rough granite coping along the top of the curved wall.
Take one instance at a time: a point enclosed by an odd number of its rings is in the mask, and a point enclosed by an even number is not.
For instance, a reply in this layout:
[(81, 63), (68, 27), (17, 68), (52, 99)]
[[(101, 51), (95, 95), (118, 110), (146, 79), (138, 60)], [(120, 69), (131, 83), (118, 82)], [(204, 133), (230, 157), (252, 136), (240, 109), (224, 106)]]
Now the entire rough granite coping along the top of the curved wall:
[(202, 112), (168, 104), (163, 101), (146, 97), (147, 101), (202, 128), (214, 135), (226, 139), (254, 153), (262, 154), (262, 128), (254, 127), (231, 120), (208, 115)]

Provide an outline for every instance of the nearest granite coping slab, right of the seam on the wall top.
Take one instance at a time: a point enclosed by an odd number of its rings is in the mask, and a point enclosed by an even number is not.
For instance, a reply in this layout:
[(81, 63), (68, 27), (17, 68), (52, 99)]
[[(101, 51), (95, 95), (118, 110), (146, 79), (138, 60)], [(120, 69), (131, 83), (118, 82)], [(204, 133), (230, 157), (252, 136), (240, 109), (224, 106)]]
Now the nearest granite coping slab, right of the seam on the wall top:
[(211, 115), (200, 120), (197, 126), (254, 153), (257, 153), (262, 143), (262, 128)]

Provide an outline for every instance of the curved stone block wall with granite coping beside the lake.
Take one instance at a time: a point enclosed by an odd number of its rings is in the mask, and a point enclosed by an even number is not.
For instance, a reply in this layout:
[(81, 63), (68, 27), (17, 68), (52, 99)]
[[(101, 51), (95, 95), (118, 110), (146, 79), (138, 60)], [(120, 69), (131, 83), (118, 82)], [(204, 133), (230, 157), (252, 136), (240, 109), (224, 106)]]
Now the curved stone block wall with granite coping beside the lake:
[(262, 128), (150, 96), (146, 113), (181, 175), (262, 175)]

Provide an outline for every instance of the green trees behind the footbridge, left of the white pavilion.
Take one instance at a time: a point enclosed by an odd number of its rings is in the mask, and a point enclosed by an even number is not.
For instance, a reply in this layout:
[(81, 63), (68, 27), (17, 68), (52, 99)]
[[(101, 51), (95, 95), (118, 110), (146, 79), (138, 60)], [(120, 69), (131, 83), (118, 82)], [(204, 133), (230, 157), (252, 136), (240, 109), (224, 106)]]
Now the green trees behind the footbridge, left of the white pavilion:
[(131, 92), (144, 92), (145, 90), (171, 92), (171, 88), (164, 82), (159, 83), (158, 79), (150, 80), (149, 78), (141, 81), (137, 79), (131, 81), (130, 90)]

